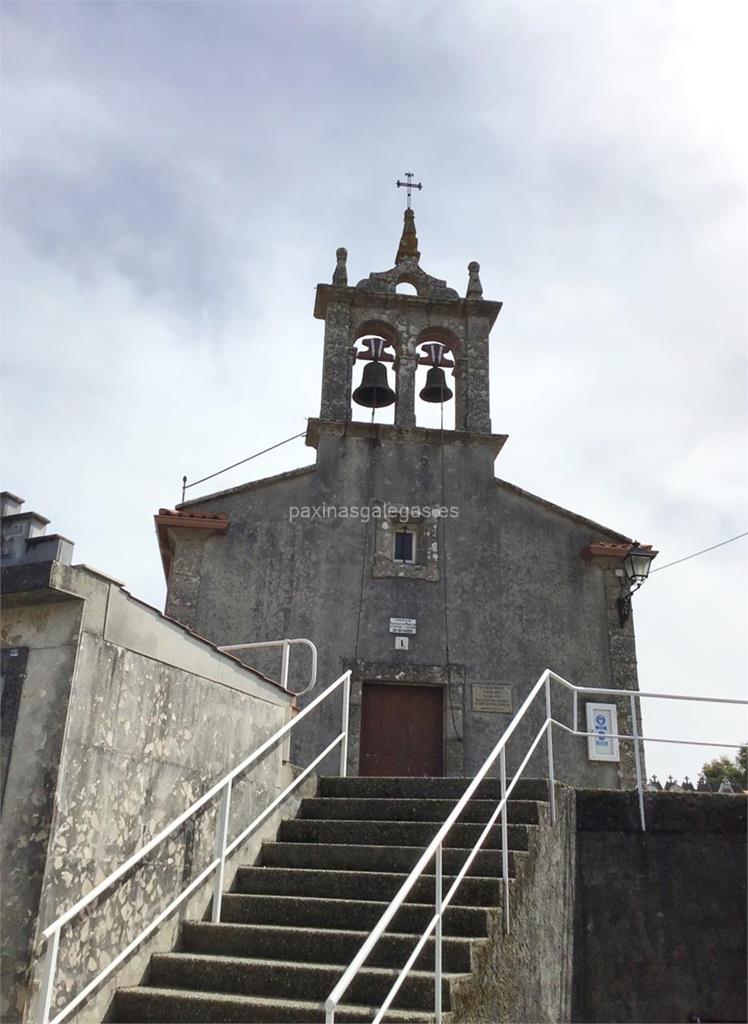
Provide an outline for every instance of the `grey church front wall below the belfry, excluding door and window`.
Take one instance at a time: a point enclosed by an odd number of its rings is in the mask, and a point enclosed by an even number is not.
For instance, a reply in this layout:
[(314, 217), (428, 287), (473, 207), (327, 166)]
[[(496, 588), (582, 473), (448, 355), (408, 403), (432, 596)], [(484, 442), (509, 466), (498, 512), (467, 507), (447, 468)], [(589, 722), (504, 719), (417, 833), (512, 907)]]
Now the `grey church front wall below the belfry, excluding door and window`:
[[(314, 429), (316, 467), (185, 506), (225, 513), (230, 526), (221, 536), (204, 535), (199, 541), (172, 531), (167, 608), (179, 613), (184, 559), (190, 563), (185, 575), (199, 580), (197, 592), (191, 585), (190, 600), (192, 622), (202, 635), (220, 644), (304, 636), (320, 649), (323, 679), (351, 668), (351, 773), (359, 768), (357, 723), (361, 684), (367, 680), (443, 686), (445, 763), (456, 775), (469, 775), (481, 765), (545, 668), (580, 685), (636, 686), (632, 623), (624, 630), (618, 625), (613, 573), (585, 562), (581, 554), (586, 544), (606, 535), (497, 481), (496, 437), (446, 434), (443, 494), (439, 431), (362, 424)], [(459, 510), (439, 526), (433, 574), (383, 575), (379, 520), (289, 517), (291, 507), (368, 507), (377, 501)], [(417, 621), (408, 651), (393, 649), (390, 616)], [(269, 662), (253, 664), (269, 671)], [(511, 688), (512, 714), (472, 711), (472, 686), (486, 683)], [(560, 690), (557, 695), (558, 717), (570, 721), (571, 699)], [(303, 756), (334, 735), (336, 714), (331, 709), (328, 720), (317, 720), (324, 723), (323, 733), (307, 730)], [(539, 702), (510, 745), (510, 761), (524, 755), (543, 715)], [(625, 707), (620, 725), (627, 725)], [(631, 782), (628, 761), (621, 769), (590, 764), (583, 740), (559, 736), (556, 753), (559, 777), (570, 783), (615, 787)], [(537, 775), (547, 770), (543, 758), (539, 755), (532, 767)]]

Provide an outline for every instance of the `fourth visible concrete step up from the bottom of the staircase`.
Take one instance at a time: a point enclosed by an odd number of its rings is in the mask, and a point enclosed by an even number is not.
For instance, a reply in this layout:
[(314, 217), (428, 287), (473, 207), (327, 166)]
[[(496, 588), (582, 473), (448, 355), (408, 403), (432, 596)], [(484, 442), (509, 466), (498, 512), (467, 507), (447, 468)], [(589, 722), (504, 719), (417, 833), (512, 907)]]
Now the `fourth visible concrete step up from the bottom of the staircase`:
[[(333, 928), (371, 931), (388, 901), (319, 899), (297, 896), (251, 896), (225, 893), (221, 918), (227, 924), (288, 925), (296, 928)], [(453, 906), (445, 913), (446, 935), (488, 935), (488, 907)], [(433, 903), (406, 903), (392, 919), (393, 932), (420, 935), (433, 915)]]

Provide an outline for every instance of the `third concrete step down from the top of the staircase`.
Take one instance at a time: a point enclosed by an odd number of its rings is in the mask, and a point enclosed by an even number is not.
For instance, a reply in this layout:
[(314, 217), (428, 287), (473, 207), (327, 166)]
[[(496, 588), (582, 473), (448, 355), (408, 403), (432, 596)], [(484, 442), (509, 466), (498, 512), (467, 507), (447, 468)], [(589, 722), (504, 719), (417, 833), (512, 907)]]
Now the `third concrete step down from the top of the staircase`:
[[(444, 819), (441, 821), (350, 821), (330, 820), (328, 818), (291, 818), (283, 821), (279, 838), (287, 843), (335, 843), (382, 846), (420, 846), (422, 849), (437, 835)], [(510, 850), (527, 850), (529, 846), (528, 829), (534, 825), (509, 825), (508, 840)], [(477, 841), (483, 827), (480, 824), (460, 824), (452, 826), (447, 837), (450, 847), (470, 849)], [(501, 846), (501, 830), (495, 825), (484, 844), (486, 849), (499, 849)]]

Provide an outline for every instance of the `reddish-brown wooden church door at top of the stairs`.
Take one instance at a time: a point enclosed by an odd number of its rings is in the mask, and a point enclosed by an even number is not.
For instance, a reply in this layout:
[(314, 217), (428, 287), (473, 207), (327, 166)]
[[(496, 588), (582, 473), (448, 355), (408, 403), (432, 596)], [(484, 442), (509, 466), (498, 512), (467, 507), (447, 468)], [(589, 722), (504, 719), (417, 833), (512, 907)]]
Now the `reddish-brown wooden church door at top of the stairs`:
[(362, 775), (441, 775), (443, 691), (364, 683)]

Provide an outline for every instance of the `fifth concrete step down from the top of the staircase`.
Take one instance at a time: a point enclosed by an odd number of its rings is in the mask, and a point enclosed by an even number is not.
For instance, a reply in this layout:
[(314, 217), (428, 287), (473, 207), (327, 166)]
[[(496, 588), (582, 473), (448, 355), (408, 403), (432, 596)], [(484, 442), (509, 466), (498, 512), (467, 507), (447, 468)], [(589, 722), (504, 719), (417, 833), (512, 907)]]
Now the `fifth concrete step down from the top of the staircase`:
[[(328, 871), (310, 867), (240, 867), (232, 892), (278, 896), (330, 896), (333, 899), (391, 900), (407, 874), (390, 871)], [(444, 880), (446, 892), (453, 878)], [(498, 879), (466, 878), (454, 902), (463, 906), (494, 906), (499, 898)], [(409, 903), (433, 900), (437, 879), (422, 874), (407, 896)]]

